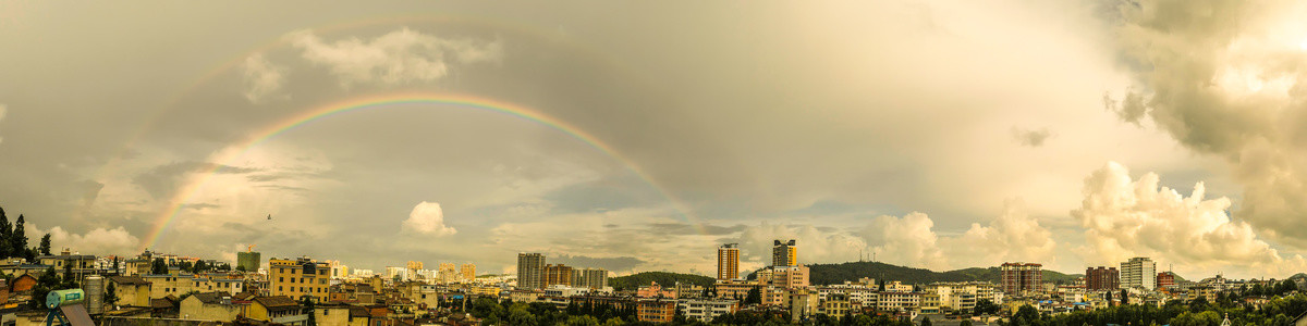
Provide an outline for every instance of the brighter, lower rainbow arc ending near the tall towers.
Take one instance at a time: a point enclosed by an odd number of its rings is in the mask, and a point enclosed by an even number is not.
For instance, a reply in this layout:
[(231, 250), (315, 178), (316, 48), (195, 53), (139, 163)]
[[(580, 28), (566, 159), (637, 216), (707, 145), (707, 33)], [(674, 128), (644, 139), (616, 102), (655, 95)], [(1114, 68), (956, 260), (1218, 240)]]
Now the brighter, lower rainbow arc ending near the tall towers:
[[(639, 166), (635, 164), (631, 159), (621, 155), (617, 150), (614, 150), (608, 143), (600, 141), (593, 134), (580, 128), (576, 128), (575, 125), (571, 125), (567, 121), (545, 115), (540, 111), (528, 107), (488, 98), (464, 95), (464, 94), (399, 93), (399, 94), (352, 98), (341, 102), (329, 103), (325, 106), (319, 106), (316, 108), (293, 115), (285, 120), (281, 120), (280, 123), (274, 123), (265, 128), (261, 128), (259, 132), (252, 133), (251, 138), (235, 146), (239, 150), (231, 151), (226, 158), (222, 158), (220, 159), (220, 162), (214, 163), (234, 162), (240, 156), (243, 156), (247, 151), (250, 151), (250, 149), (254, 149), (255, 146), (259, 146), (281, 133), (294, 129), (295, 126), (305, 125), (318, 119), (324, 119), (349, 111), (383, 108), (396, 104), (433, 104), (433, 107), (438, 108), (456, 107), (456, 108), (485, 110), (491, 112), (506, 113), (528, 121), (535, 121), (545, 126), (553, 128), (555, 130), (563, 132), (582, 142), (586, 142), (591, 147), (595, 147), (603, 151), (604, 154), (622, 162), (631, 172), (639, 176), (640, 180), (650, 184), (655, 190), (657, 190), (663, 197), (665, 197), (674, 206), (674, 209), (681, 213), (681, 215), (686, 219), (686, 222), (695, 228), (697, 232), (699, 232), (701, 235), (707, 233), (703, 230), (703, 224), (698, 223), (698, 219), (694, 218), (693, 214), (690, 214), (690, 210), (687, 210), (681, 201), (678, 201), (665, 188), (655, 183), (654, 179), (650, 177), (647, 172), (640, 170)], [(176, 196), (171, 198), (167, 206), (169, 209), (156, 218), (154, 227), (145, 237), (145, 241), (141, 243), (142, 250), (153, 248), (159, 241), (159, 237), (163, 235), (163, 231), (166, 231), (167, 227), (173, 223), (173, 220), (176, 219), (176, 216), (184, 209), (186, 203), (193, 200), (196, 193), (199, 193), (199, 190), (214, 175), (217, 175), (218, 170), (222, 166), (225, 164), (214, 164), (212, 168), (203, 171), (201, 177), (199, 180), (191, 183), (187, 188), (182, 189), (180, 192), (178, 192)]]

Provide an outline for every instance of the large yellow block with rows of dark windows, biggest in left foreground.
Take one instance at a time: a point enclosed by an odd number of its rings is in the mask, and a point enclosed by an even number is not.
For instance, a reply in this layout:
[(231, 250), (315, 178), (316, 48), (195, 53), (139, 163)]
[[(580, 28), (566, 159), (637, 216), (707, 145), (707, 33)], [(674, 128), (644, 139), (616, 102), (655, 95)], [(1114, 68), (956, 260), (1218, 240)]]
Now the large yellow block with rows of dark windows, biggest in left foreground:
[(307, 257), (297, 259), (268, 259), (268, 288), (273, 296), (291, 299), (310, 297), (327, 303), (331, 269)]

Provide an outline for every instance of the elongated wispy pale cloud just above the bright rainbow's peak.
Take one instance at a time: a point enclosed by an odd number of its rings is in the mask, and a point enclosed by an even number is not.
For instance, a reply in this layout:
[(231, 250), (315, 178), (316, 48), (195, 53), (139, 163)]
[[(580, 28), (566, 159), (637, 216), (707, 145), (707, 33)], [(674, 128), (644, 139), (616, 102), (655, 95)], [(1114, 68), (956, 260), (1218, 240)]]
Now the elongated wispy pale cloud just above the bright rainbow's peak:
[(503, 46), (497, 40), (447, 39), (400, 29), (365, 40), (348, 38), (323, 40), (311, 30), (288, 35), (303, 57), (324, 65), (340, 78), (340, 85), (403, 85), (431, 82), (450, 74), (451, 63), (498, 61)]

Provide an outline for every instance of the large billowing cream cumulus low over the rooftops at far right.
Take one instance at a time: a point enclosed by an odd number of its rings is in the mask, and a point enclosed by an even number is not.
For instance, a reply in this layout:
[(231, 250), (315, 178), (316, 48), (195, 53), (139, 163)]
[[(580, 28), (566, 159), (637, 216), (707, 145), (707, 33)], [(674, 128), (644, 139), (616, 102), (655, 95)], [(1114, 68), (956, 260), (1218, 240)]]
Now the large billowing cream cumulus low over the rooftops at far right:
[(1086, 262), (1150, 256), (1191, 267), (1304, 266), (1300, 256), (1282, 257), (1252, 226), (1231, 220), (1229, 198), (1204, 198), (1202, 183), (1185, 197), (1159, 181), (1157, 173), (1131, 179), (1115, 162), (1085, 179), (1085, 200), (1072, 216), (1086, 230)]

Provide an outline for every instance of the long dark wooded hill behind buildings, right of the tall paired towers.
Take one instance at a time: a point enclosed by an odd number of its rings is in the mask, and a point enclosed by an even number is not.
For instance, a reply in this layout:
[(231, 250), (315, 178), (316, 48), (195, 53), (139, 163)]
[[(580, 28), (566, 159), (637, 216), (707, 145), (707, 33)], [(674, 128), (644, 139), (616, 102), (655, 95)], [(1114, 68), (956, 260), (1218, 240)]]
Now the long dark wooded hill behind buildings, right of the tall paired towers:
[[(877, 280), (901, 280), (903, 283), (925, 284), (932, 282), (968, 282), (988, 280), (997, 284), (1002, 273), (999, 267), (972, 267), (950, 271), (932, 271), (927, 269), (914, 269), (884, 262), (844, 262), (844, 263), (814, 263), (810, 280), (813, 284), (838, 284), (844, 280), (857, 280), (859, 278), (873, 278)], [(1061, 274), (1044, 270), (1044, 282), (1065, 283), (1084, 275)], [(750, 275), (753, 278), (753, 275)]]

